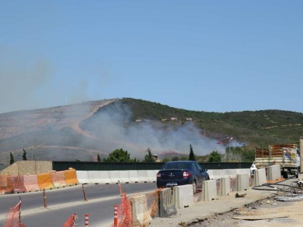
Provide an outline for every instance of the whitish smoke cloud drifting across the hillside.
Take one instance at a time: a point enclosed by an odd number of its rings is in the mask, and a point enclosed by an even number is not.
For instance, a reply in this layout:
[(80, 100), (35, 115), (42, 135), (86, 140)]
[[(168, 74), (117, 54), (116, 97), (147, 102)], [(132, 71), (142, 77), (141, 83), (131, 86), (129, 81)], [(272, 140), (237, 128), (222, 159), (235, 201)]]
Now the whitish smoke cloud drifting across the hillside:
[[(142, 158), (147, 147), (153, 153), (169, 151), (188, 153), (190, 144), (196, 155), (206, 155), (213, 150), (225, 152), (224, 144), (218, 144), (216, 139), (203, 136), (194, 123), (162, 123), (148, 119), (134, 122), (134, 120), (129, 106), (118, 101), (99, 109), (90, 119), (82, 122), (80, 127), (95, 138), (115, 144), (107, 147), (100, 144), (99, 149), (110, 152), (111, 149), (121, 147), (127, 149), (132, 157)], [(239, 143), (235, 140), (230, 144), (237, 145)]]

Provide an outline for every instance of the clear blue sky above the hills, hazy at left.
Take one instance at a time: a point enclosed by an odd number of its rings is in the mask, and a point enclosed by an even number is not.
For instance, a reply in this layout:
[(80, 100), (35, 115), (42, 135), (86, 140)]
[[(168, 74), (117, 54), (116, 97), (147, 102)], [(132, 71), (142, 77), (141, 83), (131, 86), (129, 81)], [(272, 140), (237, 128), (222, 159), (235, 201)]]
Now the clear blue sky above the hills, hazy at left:
[(0, 112), (134, 97), (303, 112), (301, 1), (3, 1)]

